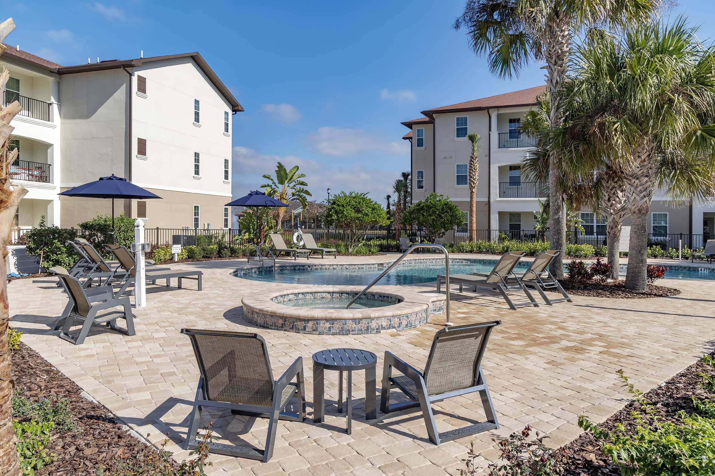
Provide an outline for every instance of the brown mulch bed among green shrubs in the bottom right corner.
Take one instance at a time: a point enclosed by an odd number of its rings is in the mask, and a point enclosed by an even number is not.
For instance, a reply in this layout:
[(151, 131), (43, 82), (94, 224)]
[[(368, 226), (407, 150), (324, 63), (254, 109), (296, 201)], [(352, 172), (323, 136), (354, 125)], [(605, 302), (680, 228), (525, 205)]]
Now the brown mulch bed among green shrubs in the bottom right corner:
[[(710, 355), (715, 355), (715, 352)], [(646, 399), (651, 400), (660, 410), (661, 421), (679, 422), (676, 414), (680, 410), (684, 410), (689, 415), (696, 412), (692, 397), (712, 399), (713, 396), (699, 385), (702, 381), (699, 377), (700, 373), (715, 376), (715, 368), (698, 361), (663, 385), (646, 393)], [(614, 374), (613, 378), (617, 379), (618, 375)], [(623, 410), (611, 415), (598, 427), (603, 430), (613, 430), (616, 424), (623, 423), (627, 429), (632, 430), (636, 424), (631, 417), (631, 412), (637, 408), (637, 403), (630, 402), (623, 407)], [(582, 433), (563, 449), (570, 454), (565, 473), (568, 476), (621, 476), (619, 467), (613, 465), (611, 457), (603, 455), (601, 443), (591, 433)]]

